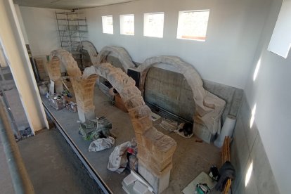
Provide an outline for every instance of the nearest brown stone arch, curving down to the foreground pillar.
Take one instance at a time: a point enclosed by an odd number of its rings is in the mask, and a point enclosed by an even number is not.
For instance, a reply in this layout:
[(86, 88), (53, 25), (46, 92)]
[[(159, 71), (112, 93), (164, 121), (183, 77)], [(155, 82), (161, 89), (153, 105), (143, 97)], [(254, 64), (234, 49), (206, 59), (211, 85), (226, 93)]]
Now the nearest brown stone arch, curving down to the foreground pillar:
[[(145, 105), (141, 91), (135, 86), (134, 79), (110, 63), (86, 67), (82, 79), (88, 79), (91, 75), (100, 75), (107, 79), (118, 91), (129, 111), (138, 143), (138, 165), (145, 167), (157, 179), (169, 173), (172, 169), (172, 156), (176, 150), (176, 141), (153, 127), (151, 110)], [(151, 183), (153, 180), (147, 181)], [(169, 180), (167, 181), (169, 183)], [(152, 183), (152, 186), (155, 184)], [(158, 187), (154, 186), (155, 191), (161, 189)]]

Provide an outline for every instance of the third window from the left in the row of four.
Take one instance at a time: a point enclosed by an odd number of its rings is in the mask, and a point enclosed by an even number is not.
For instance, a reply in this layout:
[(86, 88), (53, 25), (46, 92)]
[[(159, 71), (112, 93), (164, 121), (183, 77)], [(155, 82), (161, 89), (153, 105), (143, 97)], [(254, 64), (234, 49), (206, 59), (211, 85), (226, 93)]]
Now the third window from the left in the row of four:
[(164, 34), (164, 13), (145, 13), (143, 36), (162, 38)]

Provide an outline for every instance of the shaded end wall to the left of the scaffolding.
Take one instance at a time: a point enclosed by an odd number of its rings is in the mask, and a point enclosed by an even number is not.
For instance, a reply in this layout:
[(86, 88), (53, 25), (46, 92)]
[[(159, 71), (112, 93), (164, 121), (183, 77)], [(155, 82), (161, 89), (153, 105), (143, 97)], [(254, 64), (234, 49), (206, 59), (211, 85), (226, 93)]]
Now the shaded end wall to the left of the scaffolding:
[(20, 6), (20, 13), (33, 56), (48, 55), (60, 48), (56, 10)]

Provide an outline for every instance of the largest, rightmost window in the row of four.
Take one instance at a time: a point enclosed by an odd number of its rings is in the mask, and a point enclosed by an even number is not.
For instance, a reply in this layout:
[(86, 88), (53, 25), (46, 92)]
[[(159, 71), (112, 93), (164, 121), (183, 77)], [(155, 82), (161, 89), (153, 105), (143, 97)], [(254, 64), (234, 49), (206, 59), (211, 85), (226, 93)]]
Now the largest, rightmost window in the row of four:
[(177, 39), (205, 41), (209, 10), (179, 11)]

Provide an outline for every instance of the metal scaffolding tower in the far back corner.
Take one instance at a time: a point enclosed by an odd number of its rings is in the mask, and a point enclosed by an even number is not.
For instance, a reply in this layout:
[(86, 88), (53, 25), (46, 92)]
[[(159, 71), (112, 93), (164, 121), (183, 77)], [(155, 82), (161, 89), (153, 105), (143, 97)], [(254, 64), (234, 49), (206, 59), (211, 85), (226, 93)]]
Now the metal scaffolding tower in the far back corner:
[(56, 20), (60, 46), (72, 53), (76, 61), (82, 63), (82, 41), (88, 32), (86, 18), (80, 17), (77, 10), (72, 10), (70, 12), (56, 12)]

